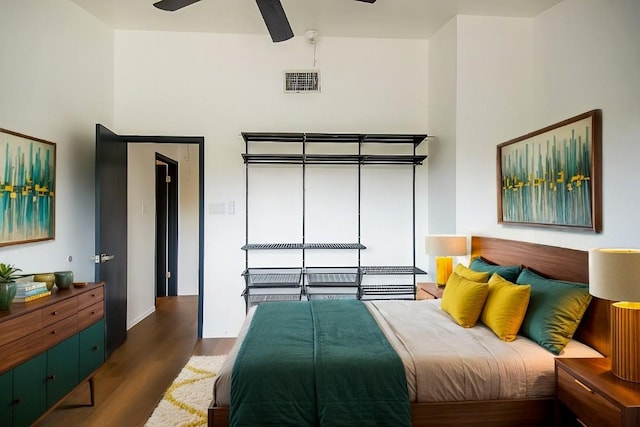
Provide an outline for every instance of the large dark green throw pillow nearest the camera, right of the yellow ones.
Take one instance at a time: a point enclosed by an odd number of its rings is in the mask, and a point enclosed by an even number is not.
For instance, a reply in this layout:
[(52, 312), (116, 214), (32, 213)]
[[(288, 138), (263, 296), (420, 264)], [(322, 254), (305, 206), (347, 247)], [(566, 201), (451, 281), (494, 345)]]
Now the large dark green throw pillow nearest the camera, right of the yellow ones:
[(567, 345), (591, 302), (589, 286), (541, 277), (524, 269), (516, 283), (531, 285), (527, 314), (520, 334), (528, 337), (553, 354), (560, 354)]

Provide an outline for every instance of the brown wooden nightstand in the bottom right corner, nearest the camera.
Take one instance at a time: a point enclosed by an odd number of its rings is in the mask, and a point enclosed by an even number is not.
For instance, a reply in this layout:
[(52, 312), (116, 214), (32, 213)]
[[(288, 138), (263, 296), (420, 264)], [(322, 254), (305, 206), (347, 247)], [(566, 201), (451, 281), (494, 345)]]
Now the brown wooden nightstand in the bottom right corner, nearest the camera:
[(639, 426), (640, 384), (611, 373), (611, 360), (556, 359), (556, 425)]

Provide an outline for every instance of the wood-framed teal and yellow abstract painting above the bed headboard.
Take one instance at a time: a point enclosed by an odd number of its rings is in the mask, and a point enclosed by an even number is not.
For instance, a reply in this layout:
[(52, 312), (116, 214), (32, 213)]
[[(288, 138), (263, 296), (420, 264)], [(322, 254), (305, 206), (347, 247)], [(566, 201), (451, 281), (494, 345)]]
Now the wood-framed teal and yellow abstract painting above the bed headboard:
[(601, 230), (602, 113), (498, 145), (498, 223)]

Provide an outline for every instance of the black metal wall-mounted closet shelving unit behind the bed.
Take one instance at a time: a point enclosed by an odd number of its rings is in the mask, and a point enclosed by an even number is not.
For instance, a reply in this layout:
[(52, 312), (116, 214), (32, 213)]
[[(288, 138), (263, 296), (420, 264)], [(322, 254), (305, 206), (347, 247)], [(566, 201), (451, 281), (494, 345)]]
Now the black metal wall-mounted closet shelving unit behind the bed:
[[(242, 250), (245, 251), (245, 298), (247, 307), (259, 301), (250, 301), (249, 291), (251, 288), (280, 288), (281, 284), (286, 282), (285, 288), (296, 288), (296, 291), (289, 291), (286, 297), (276, 297), (277, 299), (299, 299), (303, 289), (304, 276), (307, 276), (307, 287), (309, 286), (353, 286), (358, 289), (355, 297), (361, 299), (414, 299), (415, 298), (415, 276), (427, 274), (424, 270), (415, 266), (416, 264), (416, 167), (422, 165), (427, 158), (426, 155), (416, 154), (416, 148), (427, 138), (426, 134), (352, 134), (352, 133), (283, 133), (283, 132), (243, 132), (242, 137), (245, 142), (245, 152), (242, 158), (245, 163), (245, 206), (246, 206), (246, 224), (245, 224), (245, 245)], [(251, 145), (255, 143), (292, 143), (300, 145), (300, 153), (296, 154), (264, 154), (251, 153)], [(357, 144), (357, 154), (317, 154), (308, 152), (307, 148), (312, 144)], [(365, 154), (363, 146), (367, 144), (386, 144), (386, 145), (410, 145), (412, 154)], [(355, 151), (355, 150), (354, 150)], [(302, 241), (293, 243), (251, 243), (249, 240), (249, 206), (250, 206), (250, 189), (249, 189), (249, 169), (251, 165), (300, 165), (302, 168)], [(314, 243), (307, 242), (305, 239), (305, 177), (307, 165), (354, 165), (358, 169), (357, 173), (357, 215), (358, 230), (357, 241), (349, 243)], [(380, 265), (369, 266), (361, 265), (360, 252), (366, 249), (366, 246), (360, 241), (360, 196), (361, 196), (361, 176), (362, 167), (364, 165), (407, 165), (412, 168), (412, 231), (413, 231), (413, 263), (412, 265)], [(256, 250), (300, 250), (302, 258), (302, 268), (251, 268), (249, 266), (249, 252)], [(306, 265), (305, 253), (308, 250), (356, 250), (358, 265), (350, 268), (335, 269), (326, 267), (308, 267)], [(354, 274), (354, 268), (356, 274)], [(307, 271), (308, 270), (308, 271)], [(311, 273), (313, 271), (313, 273)], [(362, 276), (383, 276), (383, 275), (410, 275), (413, 276), (412, 285), (361, 285)], [(302, 278), (302, 280), (300, 280)], [(300, 283), (296, 284), (296, 280)], [(311, 292), (309, 292), (311, 294)], [(343, 294), (344, 295), (344, 294)], [(340, 297), (336, 295), (336, 297)], [(276, 299), (274, 298), (274, 299)], [(263, 298), (262, 301), (268, 300)]]

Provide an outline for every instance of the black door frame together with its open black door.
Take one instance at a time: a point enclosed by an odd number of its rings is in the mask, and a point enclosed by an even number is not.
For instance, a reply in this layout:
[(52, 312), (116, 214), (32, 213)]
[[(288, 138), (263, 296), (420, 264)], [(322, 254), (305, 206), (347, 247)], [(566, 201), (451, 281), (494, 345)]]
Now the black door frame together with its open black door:
[[(129, 144), (195, 144), (198, 147), (198, 337), (202, 337), (204, 300), (204, 137), (118, 135), (96, 125), (95, 280), (105, 286), (107, 357), (127, 334), (127, 147)], [(141, 210), (145, 209), (142, 204)]]

